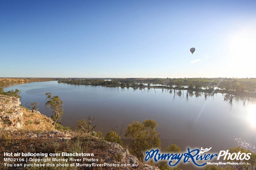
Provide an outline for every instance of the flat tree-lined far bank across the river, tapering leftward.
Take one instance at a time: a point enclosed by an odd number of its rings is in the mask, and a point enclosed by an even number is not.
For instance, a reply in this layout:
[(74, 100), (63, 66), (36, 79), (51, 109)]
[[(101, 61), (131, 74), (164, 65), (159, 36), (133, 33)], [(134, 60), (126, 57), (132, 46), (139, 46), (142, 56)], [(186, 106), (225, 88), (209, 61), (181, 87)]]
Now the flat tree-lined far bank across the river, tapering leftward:
[[(111, 80), (71, 78), (62, 79), (58, 82), (76, 85), (101, 85), (107, 87), (166, 88), (256, 97), (256, 78), (125, 78)], [(157, 84), (157, 86), (155, 86), (155, 84)]]

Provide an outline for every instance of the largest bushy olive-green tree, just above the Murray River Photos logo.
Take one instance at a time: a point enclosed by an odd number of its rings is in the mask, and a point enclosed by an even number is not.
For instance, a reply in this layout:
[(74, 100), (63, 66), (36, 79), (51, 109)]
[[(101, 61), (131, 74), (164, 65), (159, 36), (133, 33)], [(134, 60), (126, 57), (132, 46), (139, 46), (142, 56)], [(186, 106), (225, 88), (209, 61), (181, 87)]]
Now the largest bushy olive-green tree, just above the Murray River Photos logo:
[(141, 161), (144, 151), (151, 148), (161, 148), (159, 133), (155, 130), (156, 127), (155, 120), (144, 120), (142, 123), (133, 121), (127, 126), (125, 136), (131, 139), (131, 153)]

